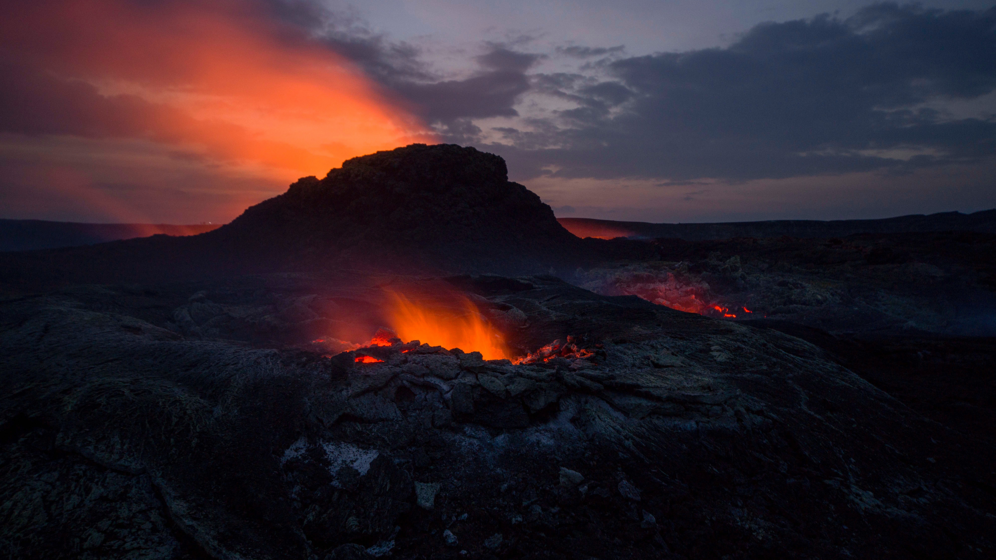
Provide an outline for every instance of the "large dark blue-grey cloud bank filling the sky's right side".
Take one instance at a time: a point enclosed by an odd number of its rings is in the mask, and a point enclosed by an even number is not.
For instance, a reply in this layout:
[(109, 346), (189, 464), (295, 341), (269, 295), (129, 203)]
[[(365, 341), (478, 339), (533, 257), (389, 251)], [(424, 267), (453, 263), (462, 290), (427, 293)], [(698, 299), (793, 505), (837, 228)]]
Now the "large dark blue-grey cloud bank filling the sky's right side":
[[(598, 85), (534, 78), (577, 102), (488, 146), (520, 177), (762, 177), (912, 169), (996, 152), (996, 119), (925, 106), (996, 89), (996, 8), (878, 4), (755, 27), (726, 49), (616, 60)], [(550, 127), (549, 125), (555, 125)], [(890, 150), (917, 155), (897, 157)]]

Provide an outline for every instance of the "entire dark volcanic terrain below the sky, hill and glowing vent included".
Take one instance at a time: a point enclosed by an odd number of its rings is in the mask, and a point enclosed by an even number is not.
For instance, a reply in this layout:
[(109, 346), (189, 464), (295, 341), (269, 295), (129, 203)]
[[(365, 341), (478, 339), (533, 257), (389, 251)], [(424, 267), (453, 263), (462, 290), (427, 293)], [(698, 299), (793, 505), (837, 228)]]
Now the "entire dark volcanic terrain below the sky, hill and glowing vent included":
[(0, 550), (993, 557), (996, 339), (902, 313), (991, 294), (996, 236), (678, 241), (413, 144), (201, 235), (0, 255)]

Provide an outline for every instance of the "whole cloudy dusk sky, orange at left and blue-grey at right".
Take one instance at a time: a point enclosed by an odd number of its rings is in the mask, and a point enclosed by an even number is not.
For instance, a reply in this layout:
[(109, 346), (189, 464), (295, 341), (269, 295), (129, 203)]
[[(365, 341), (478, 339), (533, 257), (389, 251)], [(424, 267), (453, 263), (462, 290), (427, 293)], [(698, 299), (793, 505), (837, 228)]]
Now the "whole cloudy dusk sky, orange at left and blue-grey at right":
[(996, 2), (12, 0), (0, 217), (227, 222), (411, 142), (560, 217), (996, 207)]

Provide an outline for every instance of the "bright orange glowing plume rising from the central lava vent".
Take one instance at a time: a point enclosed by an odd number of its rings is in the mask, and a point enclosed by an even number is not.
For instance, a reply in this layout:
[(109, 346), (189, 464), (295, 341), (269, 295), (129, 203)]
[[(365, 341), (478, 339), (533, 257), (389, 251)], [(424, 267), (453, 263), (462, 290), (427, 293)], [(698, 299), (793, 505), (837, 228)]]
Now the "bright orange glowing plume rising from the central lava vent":
[(448, 296), (445, 306), (418, 304), (392, 291), (387, 300), (390, 327), (402, 341), (480, 352), (485, 360), (510, 358), (501, 333), (463, 295)]

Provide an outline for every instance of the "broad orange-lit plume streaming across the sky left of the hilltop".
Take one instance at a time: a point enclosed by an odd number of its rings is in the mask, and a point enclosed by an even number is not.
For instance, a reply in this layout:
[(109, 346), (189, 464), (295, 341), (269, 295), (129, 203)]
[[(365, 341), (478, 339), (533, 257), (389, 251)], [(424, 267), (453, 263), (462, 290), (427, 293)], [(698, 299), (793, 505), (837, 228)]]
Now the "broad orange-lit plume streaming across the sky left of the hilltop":
[[(105, 125), (84, 136), (150, 140), (177, 160), (281, 188), (350, 157), (436, 140), (355, 64), (267, 9), (258, 0), (15, 2), (0, 18), (0, 48), (96, 88), (108, 104), (83, 117)], [(233, 204), (260, 199), (242, 197)]]

